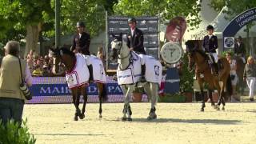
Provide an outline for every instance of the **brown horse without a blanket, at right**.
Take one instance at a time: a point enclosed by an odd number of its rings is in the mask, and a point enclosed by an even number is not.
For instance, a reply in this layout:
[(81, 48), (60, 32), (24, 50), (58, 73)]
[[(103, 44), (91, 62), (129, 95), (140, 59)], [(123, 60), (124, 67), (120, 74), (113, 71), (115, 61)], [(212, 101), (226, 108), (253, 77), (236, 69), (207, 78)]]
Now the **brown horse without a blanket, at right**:
[[(198, 50), (198, 44), (193, 41), (186, 42), (188, 58), (189, 58), (189, 70), (193, 70), (195, 67), (196, 78), (198, 79), (198, 85), (200, 86), (201, 96), (202, 96), (202, 107), (201, 111), (204, 111), (206, 107), (204, 101), (204, 93), (203, 89), (204, 83), (209, 85), (208, 94), (211, 102), (211, 106), (214, 106), (215, 109), (220, 110), (220, 105), (222, 103), (222, 110), (225, 110), (225, 98), (224, 98), (224, 90), (226, 90), (231, 95), (232, 94), (232, 86), (231, 86), (231, 78), (230, 78), (230, 64), (226, 60), (226, 58), (219, 58), (218, 61), (222, 64), (222, 70), (219, 75), (216, 76), (212, 73), (210, 64), (209, 64), (209, 56), (202, 50)], [(222, 86), (219, 85), (219, 82), (222, 82)], [(212, 92), (214, 87), (218, 90), (218, 103), (215, 106)]]

